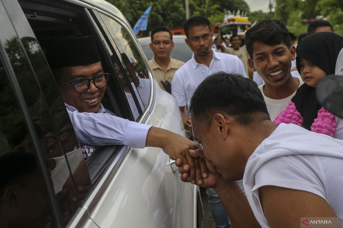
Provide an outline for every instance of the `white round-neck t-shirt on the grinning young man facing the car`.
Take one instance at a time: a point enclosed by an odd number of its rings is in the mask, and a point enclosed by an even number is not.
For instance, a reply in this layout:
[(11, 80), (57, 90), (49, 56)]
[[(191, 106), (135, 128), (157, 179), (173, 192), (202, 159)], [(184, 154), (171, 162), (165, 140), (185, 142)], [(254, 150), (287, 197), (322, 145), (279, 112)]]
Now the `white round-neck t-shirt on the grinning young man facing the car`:
[[(299, 79), (299, 87), (302, 84), (304, 84), (303, 80)], [(295, 95), (296, 91), (294, 91), (294, 93), (291, 96), (288, 96), (288, 97), (283, 98), (283, 99), (276, 100), (276, 99), (271, 99), (269, 97), (266, 97), (264, 95), (263, 86), (264, 86), (264, 84), (260, 85), (259, 89), (261, 90), (262, 95), (264, 97), (264, 102), (267, 105), (267, 109), (268, 109), (268, 112), (270, 115), (270, 119), (273, 121), (273, 120), (275, 120), (277, 115), (279, 115), (283, 110), (285, 110), (286, 106), (291, 101), (291, 99)]]

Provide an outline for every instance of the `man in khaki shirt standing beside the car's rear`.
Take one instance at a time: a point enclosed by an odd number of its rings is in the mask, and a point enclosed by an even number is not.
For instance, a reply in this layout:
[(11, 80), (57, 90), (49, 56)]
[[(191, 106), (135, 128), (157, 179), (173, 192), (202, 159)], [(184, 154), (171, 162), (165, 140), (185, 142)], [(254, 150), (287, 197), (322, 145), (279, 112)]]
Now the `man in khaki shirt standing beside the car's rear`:
[[(151, 51), (154, 57), (149, 61), (152, 71), (159, 86), (171, 93), (171, 80), (185, 63), (170, 58), (170, 52), (174, 49), (173, 35), (167, 26), (157, 26), (151, 32)], [(163, 82), (163, 83), (162, 83)]]

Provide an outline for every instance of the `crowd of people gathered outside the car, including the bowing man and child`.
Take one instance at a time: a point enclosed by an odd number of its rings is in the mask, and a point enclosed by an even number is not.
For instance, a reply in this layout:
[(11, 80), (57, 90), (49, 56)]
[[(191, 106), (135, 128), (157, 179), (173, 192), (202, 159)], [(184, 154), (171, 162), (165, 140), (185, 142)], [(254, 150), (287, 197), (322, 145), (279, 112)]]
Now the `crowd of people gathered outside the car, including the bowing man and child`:
[[(162, 27), (151, 34), (160, 45), (150, 63), (167, 50), (167, 66), (174, 60), (163, 43), (172, 35)], [(298, 227), (301, 217), (332, 217), (341, 227), (342, 120), (321, 106), (315, 89), (337, 73), (343, 38), (317, 21), (296, 43), (284, 22), (266, 19), (247, 30), (243, 46), (236, 34), (223, 42), (218, 29), (211, 49), (210, 29), (202, 16), (185, 23), (193, 56), (169, 80), (185, 128), (202, 147), (189, 151), (198, 168), (179, 161), (181, 179), (207, 188), (217, 228)], [(157, 80), (167, 74), (159, 69)]]

